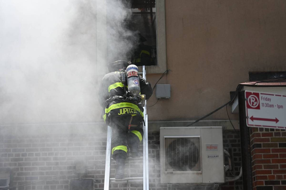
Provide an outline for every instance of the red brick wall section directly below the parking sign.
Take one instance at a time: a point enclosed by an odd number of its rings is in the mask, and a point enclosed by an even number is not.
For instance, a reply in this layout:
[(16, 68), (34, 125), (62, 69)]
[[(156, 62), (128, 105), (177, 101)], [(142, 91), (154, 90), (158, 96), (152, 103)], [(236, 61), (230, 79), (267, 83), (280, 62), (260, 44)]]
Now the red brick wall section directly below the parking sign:
[(286, 132), (250, 128), (254, 190), (286, 189)]

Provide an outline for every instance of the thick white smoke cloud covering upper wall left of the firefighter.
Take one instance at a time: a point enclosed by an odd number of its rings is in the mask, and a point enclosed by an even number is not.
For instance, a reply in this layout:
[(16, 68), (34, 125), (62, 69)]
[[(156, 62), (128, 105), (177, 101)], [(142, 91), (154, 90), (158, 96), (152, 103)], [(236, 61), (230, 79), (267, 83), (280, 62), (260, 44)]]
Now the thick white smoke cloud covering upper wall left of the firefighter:
[(100, 121), (106, 62), (136, 39), (129, 10), (116, 0), (0, 1), (0, 124)]

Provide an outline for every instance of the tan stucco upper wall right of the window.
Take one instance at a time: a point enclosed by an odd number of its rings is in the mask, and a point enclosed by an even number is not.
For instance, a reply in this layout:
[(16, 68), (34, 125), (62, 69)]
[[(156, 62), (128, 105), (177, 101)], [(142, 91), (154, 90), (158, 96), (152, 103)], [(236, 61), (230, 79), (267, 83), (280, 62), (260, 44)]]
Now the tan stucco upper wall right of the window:
[[(165, 1), (171, 71), (158, 84), (172, 91), (148, 108), (149, 120), (196, 120), (227, 103), (249, 71), (286, 71), (285, 10), (278, 0)], [(160, 75), (147, 80), (154, 85)], [(227, 119), (226, 109), (207, 119)]]

